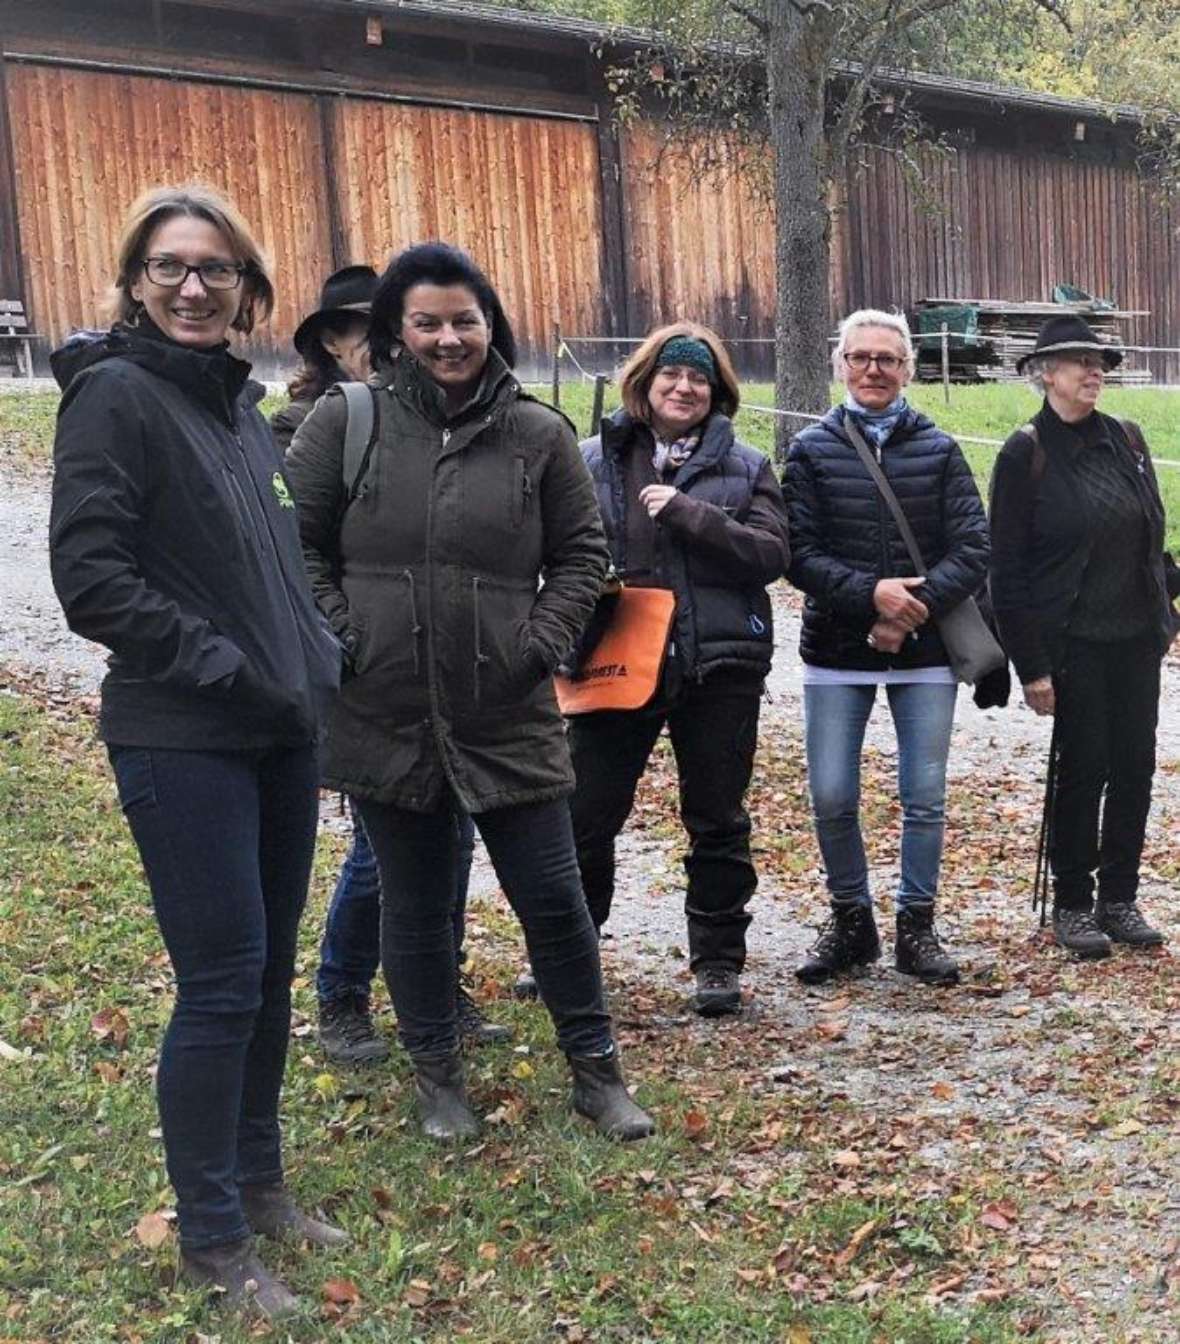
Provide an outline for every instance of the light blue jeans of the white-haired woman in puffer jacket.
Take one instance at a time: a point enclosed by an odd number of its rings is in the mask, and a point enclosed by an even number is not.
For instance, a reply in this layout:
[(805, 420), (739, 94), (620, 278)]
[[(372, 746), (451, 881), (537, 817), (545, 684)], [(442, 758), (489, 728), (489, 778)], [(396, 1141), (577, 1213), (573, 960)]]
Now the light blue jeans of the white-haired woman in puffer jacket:
[[(902, 878), (898, 909), (929, 905), (938, 892), (946, 817), (946, 757), (957, 687), (886, 687), (898, 734)], [(860, 833), (860, 753), (875, 685), (805, 685), (808, 784), (833, 906), (871, 906)]]

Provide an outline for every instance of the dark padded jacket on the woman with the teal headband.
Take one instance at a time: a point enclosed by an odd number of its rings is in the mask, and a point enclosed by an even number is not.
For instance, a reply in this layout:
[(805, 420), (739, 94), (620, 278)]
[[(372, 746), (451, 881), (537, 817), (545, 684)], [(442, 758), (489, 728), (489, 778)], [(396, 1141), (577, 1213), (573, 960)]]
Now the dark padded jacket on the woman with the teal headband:
[(650, 458), (652, 435), (625, 410), (582, 444), (614, 567), (637, 585), (676, 594), (673, 638), (684, 676), (702, 680), (731, 668), (765, 677), (774, 653), (766, 585), (782, 578), (790, 558), (770, 462), (735, 438), (728, 417), (711, 415), (653, 523), (634, 488), (642, 472), (628, 461), (637, 453)]

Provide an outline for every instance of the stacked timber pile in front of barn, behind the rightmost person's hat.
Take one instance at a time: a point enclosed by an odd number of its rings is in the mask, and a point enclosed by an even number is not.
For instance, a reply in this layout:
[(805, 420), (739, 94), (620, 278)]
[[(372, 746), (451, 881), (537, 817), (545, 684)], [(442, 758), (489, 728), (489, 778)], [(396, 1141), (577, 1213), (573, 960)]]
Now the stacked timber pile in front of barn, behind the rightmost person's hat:
[[(1016, 302), (1004, 298), (923, 298), (914, 305), (914, 332), (918, 345), (918, 376), (942, 378), (942, 324), (949, 332), (950, 378), (957, 383), (999, 382), (1019, 378), (1016, 360), (1036, 344), (1036, 333), (1047, 317), (1077, 313), (1094, 328), (1099, 340), (1111, 345), (1128, 341), (1125, 324), (1145, 312), (1130, 312), (1101, 304)], [(1133, 367), (1134, 356), (1107, 375), (1109, 383), (1149, 383), (1150, 371)]]

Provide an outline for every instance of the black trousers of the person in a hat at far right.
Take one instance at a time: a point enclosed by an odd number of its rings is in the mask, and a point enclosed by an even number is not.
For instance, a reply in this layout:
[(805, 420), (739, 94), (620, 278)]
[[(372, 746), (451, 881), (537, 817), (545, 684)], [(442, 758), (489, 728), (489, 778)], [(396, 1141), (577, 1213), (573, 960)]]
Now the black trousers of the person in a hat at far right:
[[(1160, 708), (1160, 655), (1144, 636), (1070, 640), (1056, 691), (1058, 770), (1050, 862), (1055, 900), (1134, 900)], [(1099, 823), (1101, 813), (1101, 823)]]

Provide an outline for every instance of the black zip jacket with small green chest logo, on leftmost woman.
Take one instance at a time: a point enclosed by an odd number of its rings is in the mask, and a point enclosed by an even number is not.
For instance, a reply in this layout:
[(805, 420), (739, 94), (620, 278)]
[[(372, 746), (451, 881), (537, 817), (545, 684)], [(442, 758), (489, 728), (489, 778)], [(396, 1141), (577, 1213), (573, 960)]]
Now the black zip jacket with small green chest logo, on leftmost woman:
[(251, 750), (317, 738), (340, 648), (250, 366), (155, 328), (54, 352), (50, 564), (70, 629), (110, 652), (99, 735)]

